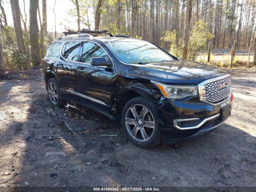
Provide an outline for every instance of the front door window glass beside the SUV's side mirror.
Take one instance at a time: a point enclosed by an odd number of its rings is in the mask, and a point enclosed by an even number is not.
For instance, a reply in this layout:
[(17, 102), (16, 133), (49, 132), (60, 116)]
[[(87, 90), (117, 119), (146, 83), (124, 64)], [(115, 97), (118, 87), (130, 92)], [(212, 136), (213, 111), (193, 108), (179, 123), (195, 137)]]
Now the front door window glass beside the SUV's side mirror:
[(93, 57), (106, 57), (106, 52), (97, 44), (92, 42), (84, 42), (83, 52), (82, 52), (82, 62), (86, 64), (91, 64)]

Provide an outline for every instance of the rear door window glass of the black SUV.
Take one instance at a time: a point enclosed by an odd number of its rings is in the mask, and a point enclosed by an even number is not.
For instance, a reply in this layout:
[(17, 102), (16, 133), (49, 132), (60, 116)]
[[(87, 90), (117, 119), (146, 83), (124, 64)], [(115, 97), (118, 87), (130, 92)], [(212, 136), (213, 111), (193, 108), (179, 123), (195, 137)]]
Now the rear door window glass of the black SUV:
[(78, 61), (81, 43), (80, 41), (66, 42), (62, 48), (62, 57), (67, 60)]

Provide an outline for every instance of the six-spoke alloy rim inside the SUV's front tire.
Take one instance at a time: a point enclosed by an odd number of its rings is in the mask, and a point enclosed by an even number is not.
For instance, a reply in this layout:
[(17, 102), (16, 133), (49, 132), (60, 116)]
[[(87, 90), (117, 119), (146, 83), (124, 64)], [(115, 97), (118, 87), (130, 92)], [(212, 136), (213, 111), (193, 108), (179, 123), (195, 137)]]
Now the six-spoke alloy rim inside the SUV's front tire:
[(152, 113), (146, 106), (136, 104), (126, 112), (126, 128), (135, 140), (145, 142), (149, 140), (155, 130), (155, 121)]

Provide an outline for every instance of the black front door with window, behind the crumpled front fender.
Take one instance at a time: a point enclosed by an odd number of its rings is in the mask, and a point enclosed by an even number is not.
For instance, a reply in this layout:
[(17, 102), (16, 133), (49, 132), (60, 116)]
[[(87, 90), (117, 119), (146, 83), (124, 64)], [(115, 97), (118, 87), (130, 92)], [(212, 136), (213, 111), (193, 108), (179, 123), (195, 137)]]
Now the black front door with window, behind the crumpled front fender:
[(112, 96), (116, 89), (118, 75), (113, 68), (92, 66), (93, 57), (108, 57), (104, 49), (94, 42), (84, 42), (80, 62), (77, 65), (77, 92), (82, 102), (104, 114), (111, 113)]

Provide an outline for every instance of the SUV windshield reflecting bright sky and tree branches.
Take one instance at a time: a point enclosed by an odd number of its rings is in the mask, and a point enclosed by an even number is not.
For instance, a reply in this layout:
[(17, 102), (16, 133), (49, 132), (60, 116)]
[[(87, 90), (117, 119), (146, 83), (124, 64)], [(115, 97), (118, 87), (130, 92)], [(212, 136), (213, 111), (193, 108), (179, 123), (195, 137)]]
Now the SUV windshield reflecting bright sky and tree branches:
[(105, 44), (119, 60), (127, 64), (148, 64), (175, 60), (155, 45), (146, 41), (111, 41)]

